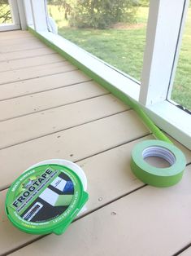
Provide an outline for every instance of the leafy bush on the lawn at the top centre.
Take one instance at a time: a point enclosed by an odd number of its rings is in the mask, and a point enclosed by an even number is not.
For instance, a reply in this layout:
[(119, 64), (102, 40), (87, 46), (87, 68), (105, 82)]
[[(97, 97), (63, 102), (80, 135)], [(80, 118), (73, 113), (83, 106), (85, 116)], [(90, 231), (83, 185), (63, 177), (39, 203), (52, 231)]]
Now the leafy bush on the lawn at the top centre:
[(106, 29), (117, 22), (132, 22), (136, 0), (72, 0), (69, 23), (78, 28)]

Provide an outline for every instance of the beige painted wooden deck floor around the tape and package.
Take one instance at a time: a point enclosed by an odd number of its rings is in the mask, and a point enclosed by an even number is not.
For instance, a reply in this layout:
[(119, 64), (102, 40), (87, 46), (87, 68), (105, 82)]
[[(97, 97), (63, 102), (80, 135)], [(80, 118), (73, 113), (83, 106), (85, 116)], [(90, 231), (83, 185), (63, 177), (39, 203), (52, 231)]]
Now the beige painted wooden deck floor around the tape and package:
[[(152, 188), (130, 170), (132, 147), (153, 138), (131, 109), (28, 32), (0, 33), (0, 254), (176, 255), (191, 244), (191, 152), (182, 181)], [(4, 213), (7, 188), (28, 166), (76, 162), (87, 210), (62, 236), (32, 236)], [(182, 255), (191, 255), (187, 249)]]

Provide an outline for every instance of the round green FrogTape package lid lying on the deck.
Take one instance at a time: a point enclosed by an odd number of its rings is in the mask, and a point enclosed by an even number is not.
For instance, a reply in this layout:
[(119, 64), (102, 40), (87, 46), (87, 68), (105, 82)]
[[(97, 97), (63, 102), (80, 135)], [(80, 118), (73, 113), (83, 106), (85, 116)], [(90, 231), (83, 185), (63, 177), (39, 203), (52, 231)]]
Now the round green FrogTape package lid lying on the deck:
[(88, 200), (80, 178), (66, 166), (37, 166), (7, 192), (6, 212), (24, 232), (62, 233)]

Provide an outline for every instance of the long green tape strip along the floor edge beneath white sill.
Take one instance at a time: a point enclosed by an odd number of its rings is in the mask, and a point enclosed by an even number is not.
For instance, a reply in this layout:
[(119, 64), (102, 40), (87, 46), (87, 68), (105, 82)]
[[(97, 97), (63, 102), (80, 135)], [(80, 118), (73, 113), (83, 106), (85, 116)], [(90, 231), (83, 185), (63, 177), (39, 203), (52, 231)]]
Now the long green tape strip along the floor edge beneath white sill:
[(130, 108), (134, 109), (137, 115), (141, 117), (141, 120), (144, 121), (145, 126), (147, 126), (150, 129), (150, 131), (154, 134), (154, 136), (157, 139), (163, 140), (167, 143), (172, 143), (171, 140), (168, 139), (167, 136), (164, 135), (163, 132), (159, 130), (157, 126), (154, 125), (154, 122), (150, 119), (150, 117), (148, 117), (145, 114), (142, 108), (138, 104), (134, 103), (131, 99), (129, 99), (127, 95), (124, 95), (122, 91), (117, 89), (115, 86), (112, 86), (111, 83), (106, 82), (106, 80), (104, 80), (102, 77), (99, 77), (96, 73), (93, 73), (91, 69), (81, 64), (71, 55), (68, 55), (66, 51), (63, 51), (58, 46), (55, 46), (54, 43), (50, 42), (49, 40), (41, 36), (41, 34), (37, 33), (37, 31), (35, 31), (34, 29), (28, 27), (28, 31), (30, 33), (33, 33), (35, 37), (39, 38), (42, 42), (44, 42), (46, 46), (49, 46), (54, 51), (57, 51), (59, 55), (63, 56), (69, 62), (74, 64), (77, 68), (82, 70), (87, 76), (91, 77), (95, 82), (98, 82), (98, 84), (106, 88), (106, 90), (109, 90), (112, 95), (115, 95), (118, 99), (123, 101), (124, 104), (127, 104)]

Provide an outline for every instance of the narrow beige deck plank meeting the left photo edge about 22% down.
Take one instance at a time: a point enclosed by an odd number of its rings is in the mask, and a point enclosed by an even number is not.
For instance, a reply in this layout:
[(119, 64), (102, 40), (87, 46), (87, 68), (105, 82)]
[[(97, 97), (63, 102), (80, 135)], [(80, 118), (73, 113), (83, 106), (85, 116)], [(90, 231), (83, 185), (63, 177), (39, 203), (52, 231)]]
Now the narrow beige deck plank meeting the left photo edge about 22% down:
[(40, 48), (40, 49), (30, 49), (26, 51), (14, 51), (14, 52), (7, 52), (2, 53), (0, 56), (0, 61), (5, 60), (18, 60), (18, 59), (26, 59), (28, 57), (35, 57), (39, 55), (49, 55), (55, 53), (52, 49), (46, 47), (46, 48)]

